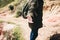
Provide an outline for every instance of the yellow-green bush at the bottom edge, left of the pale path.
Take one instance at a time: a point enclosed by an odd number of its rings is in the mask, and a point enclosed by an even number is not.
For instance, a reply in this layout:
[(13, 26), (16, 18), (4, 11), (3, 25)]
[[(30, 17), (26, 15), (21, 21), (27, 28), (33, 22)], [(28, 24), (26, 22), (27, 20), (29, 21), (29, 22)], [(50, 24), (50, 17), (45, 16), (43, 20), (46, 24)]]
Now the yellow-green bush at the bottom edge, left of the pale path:
[(22, 37), (22, 31), (20, 27), (14, 28), (13, 35), (15, 37), (15, 39), (13, 40), (24, 40), (24, 38)]

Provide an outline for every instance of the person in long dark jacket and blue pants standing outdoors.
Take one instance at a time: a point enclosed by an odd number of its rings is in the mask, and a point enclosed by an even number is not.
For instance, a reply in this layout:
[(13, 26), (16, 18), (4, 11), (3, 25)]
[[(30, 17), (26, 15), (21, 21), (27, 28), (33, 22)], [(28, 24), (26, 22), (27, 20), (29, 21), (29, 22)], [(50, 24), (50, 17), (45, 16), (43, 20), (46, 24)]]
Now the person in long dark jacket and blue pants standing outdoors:
[(30, 40), (35, 40), (38, 36), (38, 29), (42, 27), (43, 0), (29, 0), (23, 8), (23, 18), (28, 19), (31, 28)]

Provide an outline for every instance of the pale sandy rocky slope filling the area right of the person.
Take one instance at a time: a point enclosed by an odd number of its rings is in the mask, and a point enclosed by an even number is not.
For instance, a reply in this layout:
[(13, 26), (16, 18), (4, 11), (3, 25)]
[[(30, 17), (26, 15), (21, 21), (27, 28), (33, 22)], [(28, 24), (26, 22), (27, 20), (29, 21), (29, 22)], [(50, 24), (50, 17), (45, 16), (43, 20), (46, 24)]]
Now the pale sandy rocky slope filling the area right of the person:
[(43, 27), (39, 29), (39, 35), (36, 40), (50, 40), (50, 37), (54, 34), (60, 34), (59, 15), (60, 1), (44, 0)]

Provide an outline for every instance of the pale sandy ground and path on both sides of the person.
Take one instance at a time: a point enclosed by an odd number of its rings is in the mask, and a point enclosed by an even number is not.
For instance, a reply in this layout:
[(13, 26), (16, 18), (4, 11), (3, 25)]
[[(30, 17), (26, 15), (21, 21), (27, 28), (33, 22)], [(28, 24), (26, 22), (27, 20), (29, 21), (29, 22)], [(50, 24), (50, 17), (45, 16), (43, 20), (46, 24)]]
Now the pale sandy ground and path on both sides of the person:
[[(5, 10), (4, 10), (5, 11)], [(10, 21), (19, 25), (22, 29), (22, 34), (25, 40), (29, 40), (31, 29), (28, 26), (28, 20), (22, 17), (14, 18), (11, 15), (11, 11), (5, 11), (0, 14), (0, 19), (5, 22)], [(38, 31), (38, 37), (36, 40), (50, 40), (50, 37), (54, 34), (60, 34), (60, 4), (51, 3), (50, 5), (44, 5), (43, 10), (43, 27)]]

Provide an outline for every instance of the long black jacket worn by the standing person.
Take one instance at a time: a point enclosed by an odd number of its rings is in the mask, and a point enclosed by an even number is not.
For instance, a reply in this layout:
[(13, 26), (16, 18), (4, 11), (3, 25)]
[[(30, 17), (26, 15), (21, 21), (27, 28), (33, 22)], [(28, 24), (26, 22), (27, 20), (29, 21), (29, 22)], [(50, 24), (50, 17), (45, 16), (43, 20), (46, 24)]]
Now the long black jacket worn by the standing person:
[(43, 0), (32, 0), (28, 2), (23, 9), (23, 17), (26, 17), (28, 11), (33, 14), (32, 19), (34, 23), (29, 23), (31, 28), (42, 27), (42, 16), (43, 16)]

